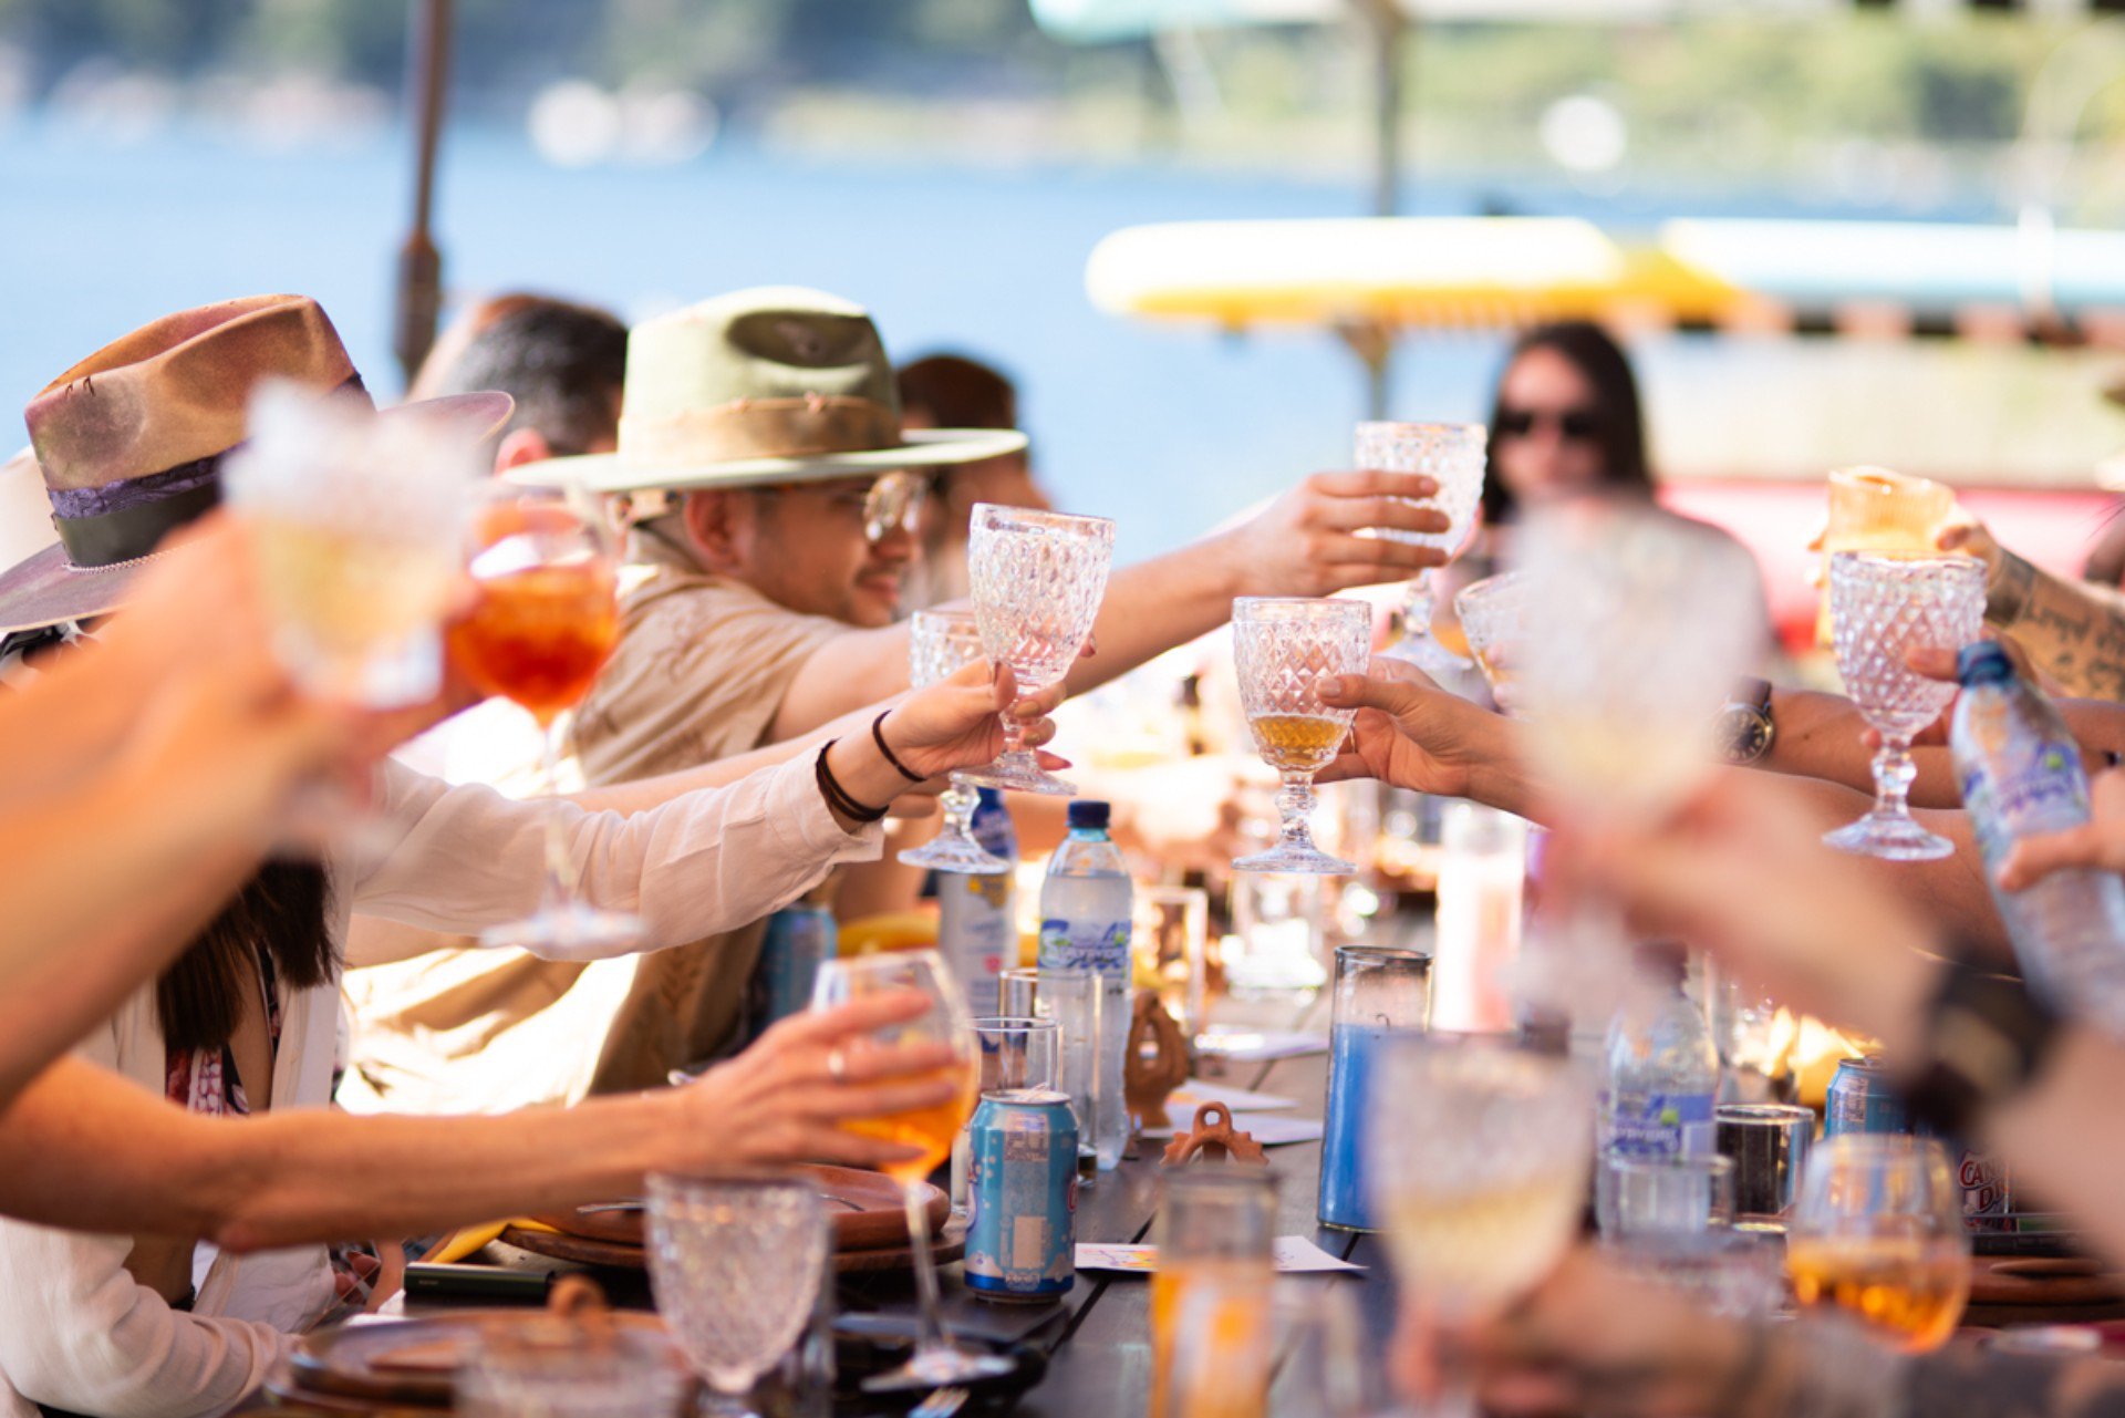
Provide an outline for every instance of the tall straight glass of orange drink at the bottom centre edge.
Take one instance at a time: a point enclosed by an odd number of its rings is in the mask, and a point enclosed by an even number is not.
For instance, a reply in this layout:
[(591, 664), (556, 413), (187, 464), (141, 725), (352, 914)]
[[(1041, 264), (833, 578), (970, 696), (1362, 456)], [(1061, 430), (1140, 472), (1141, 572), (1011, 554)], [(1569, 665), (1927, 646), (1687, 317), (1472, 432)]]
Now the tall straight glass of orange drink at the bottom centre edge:
[(1256, 1167), (1164, 1176), (1152, 1273), (1152, 1418), (1262, 1418), (1275, 1352), (1275, 1178)]

